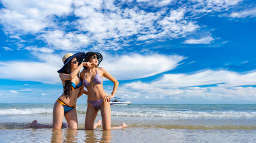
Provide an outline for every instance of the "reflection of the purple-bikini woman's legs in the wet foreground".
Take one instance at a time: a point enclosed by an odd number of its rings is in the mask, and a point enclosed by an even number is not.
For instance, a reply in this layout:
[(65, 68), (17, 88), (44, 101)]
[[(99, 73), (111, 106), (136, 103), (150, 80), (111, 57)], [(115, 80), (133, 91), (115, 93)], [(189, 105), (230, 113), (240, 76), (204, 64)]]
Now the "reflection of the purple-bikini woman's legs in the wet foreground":
[(85, 130), (85, 142), (110, 142), (111, 130)]

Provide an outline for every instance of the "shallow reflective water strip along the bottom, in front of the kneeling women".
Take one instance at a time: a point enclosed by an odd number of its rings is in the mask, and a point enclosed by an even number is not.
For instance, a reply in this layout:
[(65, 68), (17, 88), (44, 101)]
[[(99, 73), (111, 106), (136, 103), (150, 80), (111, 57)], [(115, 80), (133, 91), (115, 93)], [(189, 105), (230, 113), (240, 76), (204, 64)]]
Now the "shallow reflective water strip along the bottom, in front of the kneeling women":
[(0, 129), (1, 142), (254, 142), (256, 130), (126, 128)]

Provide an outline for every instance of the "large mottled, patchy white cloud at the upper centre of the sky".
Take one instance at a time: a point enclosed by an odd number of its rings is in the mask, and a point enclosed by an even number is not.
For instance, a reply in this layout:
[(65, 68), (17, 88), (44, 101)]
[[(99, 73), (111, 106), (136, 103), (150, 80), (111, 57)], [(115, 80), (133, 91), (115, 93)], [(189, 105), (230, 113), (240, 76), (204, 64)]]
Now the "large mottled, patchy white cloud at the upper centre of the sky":
[(89, 32), (92, 42), (107, 49), (119, 49), (119, 42), (129, 46), (131, 36), (137, 36), (137, 41), (185, 36), (199, 27), (194, 21), (186, 20), (185, 13), (183, 8), (150, 13), (138, 7), (121, 9), (113, 5), (110, 11), (102, 13), (90, 4), (74, 11), (80, 17), (77, 29)]

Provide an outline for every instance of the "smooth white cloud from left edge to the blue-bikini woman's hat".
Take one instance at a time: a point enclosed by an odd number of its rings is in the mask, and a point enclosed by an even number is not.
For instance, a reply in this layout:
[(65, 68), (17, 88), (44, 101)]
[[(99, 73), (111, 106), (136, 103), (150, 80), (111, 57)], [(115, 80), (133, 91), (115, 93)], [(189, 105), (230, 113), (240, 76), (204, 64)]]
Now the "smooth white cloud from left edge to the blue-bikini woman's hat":
[(63, 66), (62, 57), (47, 52), (34, 55), (38, 61), (0, 62), (0, 79), (59, 83), (57, 70)]

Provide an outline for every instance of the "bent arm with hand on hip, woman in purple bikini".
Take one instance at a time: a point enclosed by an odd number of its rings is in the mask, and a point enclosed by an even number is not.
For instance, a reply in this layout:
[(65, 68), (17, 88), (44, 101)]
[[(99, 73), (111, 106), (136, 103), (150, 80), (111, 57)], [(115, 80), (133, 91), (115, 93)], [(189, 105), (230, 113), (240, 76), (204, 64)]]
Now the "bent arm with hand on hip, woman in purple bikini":
[(113, 87), (113, 91), (112, 91), (111, 95), (106, 97), (106, 100), (109, 102), (111, 98), (115, 97), (116, 90), (118, 89), (119, 82), (107, 70), (105, 70), (103, 67), (101, 67), (101, 70), (103, 71), (103, 76), (114, 83), (114, 87)]

